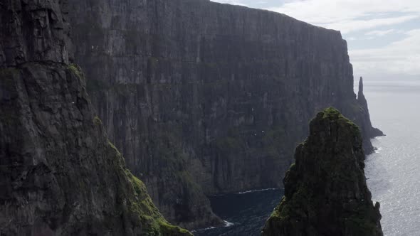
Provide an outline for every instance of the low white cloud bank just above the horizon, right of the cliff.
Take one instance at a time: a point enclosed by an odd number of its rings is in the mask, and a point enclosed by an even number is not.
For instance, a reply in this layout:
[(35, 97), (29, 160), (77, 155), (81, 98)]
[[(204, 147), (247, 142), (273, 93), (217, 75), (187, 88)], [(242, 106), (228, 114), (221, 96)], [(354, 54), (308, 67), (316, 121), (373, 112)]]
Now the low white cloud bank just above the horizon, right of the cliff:
[(420, 29), (406, 35), (383, 48), (350, 50), (355, 73), (420, 75)]

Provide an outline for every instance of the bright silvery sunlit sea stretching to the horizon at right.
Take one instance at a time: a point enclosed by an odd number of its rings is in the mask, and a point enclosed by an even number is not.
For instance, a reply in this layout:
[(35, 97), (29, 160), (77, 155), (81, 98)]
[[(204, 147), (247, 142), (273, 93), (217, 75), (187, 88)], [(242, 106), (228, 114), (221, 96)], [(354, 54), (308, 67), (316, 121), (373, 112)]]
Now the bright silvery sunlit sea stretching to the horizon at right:
[(385, 236), (420, 235), (420, 81), (364, 82), (372, 124), (387, 134), (372, 140), (366, 176), (381, 203)]

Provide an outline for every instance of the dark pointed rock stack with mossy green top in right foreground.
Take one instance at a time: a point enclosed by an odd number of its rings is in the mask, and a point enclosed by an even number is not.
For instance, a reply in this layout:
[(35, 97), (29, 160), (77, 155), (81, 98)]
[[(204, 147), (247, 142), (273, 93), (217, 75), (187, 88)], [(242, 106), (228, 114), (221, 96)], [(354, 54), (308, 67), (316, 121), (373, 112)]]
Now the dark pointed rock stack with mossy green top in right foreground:
[(337, 109), (310, 122), (284, 185), (262, 235), (383, 235), (379, 203), (373, 205), (364, 176), (362, 135)]

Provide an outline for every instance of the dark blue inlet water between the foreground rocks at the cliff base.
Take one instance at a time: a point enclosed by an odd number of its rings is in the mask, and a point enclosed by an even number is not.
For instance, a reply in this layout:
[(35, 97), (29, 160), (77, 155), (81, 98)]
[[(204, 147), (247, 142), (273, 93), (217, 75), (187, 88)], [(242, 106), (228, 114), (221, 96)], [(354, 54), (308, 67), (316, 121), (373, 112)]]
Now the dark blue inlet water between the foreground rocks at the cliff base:
[(282, 189), (212, 197), (211, 206), (219, 217), (226, 220), (226, 227), (198, 230), (194, 235), (260, 235), (261, 227), (281, 197)]

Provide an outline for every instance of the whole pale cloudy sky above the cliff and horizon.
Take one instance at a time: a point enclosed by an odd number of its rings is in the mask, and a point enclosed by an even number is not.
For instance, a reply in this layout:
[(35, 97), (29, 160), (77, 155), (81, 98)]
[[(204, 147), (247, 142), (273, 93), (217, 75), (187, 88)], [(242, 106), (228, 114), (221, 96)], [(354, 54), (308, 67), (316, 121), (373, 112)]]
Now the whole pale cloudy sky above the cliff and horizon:
[(420, 0), (211, 0), (341, 31), (355, 77), (420, 80)]

